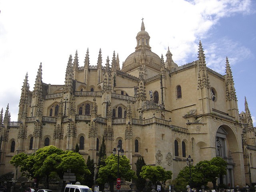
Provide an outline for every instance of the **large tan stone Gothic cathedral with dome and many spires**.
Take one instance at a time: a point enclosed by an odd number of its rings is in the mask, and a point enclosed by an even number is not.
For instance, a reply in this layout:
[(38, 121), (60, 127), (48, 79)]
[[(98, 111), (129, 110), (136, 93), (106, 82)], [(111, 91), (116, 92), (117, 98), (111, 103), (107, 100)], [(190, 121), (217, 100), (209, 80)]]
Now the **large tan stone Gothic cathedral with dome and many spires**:
[(26, 74), (18, 121), (10, 121), (9, 104), (1, 111), (0, 176), (13, 172), (17, 180), (12, 157), (48, 145), (74, 150), (78, 144), (85, 160), (90, 155), (98, 162), (104, 138), (107, 155), (120, 144), (133, 170), (143, 157), (147, 165), (171, 170), (174, 179), (189, 155), (194, 164), (220, 156), (228, 166), (217, 184), (255, 183), (256, 128), (246, 98), (238, 112), (228, 58), (222, 75), (206, 66), (200, 41), (196, 61), (178, 65), (169, 48), (160, 57), (151, 51), (143, 20), (134, 45), (122, 68), (115, 52), (102, 62), (102, 50), (94, 65), (87, 50), (79, 66), (76, 51), (62, 85), (42, 81), (42, 63), (32, 91)]

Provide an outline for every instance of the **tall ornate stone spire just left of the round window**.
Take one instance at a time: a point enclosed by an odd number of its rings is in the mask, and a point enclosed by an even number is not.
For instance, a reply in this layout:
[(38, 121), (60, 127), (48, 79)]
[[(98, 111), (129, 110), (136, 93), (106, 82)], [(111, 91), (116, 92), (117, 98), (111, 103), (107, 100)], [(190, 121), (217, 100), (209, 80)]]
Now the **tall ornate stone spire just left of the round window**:
[(198, 73), (198, 89), (199, 88), (210, 88), (210, 80), (206, 71), (206, 63), (204, 56), (204, 49), (202, 47), (201, 41), (199, 41), (198, 48), (198, 58), (199, 58), (199, 73)]

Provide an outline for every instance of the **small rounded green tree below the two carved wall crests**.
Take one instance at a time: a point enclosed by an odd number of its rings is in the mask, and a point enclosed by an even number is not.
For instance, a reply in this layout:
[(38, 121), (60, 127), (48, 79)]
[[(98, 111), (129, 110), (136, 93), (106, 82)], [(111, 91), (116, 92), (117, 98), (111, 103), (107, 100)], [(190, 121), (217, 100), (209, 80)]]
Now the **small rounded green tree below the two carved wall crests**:
[(144, 179), (149, 179), (153, 184), (159, 182), (166, 182), (168, 179), (172, 179), (172, 172), (165, 171), (161, 166), (143, 166), (140, 172), (140, 176)]

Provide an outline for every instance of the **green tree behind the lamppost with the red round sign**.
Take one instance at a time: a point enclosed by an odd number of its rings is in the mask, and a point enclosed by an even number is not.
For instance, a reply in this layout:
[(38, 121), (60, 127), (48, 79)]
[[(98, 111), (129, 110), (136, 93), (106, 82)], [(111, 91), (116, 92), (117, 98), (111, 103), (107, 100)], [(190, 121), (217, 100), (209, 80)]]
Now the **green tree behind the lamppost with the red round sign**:
[[(105, 159), (106, 166), (100, 166), (97, 182), (104, 184), (109, 182), (110, 190), (113, 191), (114, 182), (117, 179), (118, 156), (111, 154)], [(119, 177), (121, 180), (131, 181), (136, 179), (134, 170), (131, 169), (130, 160), (126, 156), (119, 156)]]

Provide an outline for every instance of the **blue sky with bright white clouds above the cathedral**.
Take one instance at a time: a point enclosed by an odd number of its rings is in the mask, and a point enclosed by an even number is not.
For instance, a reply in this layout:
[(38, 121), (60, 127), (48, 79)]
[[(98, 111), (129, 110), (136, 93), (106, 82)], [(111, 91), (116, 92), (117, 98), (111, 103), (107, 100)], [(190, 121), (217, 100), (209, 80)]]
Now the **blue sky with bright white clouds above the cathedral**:
[(12, 121), (27, 72), (33, 90), (40, 62), (43, 82), (64, 84), (69, 55), (76, 50), (80, 66), (87, 48), (91, 65), (100, 48), (104, 63), (114, 51), (122, 63), (135, 50), (142, 18), (152, 51), (165, 58), (169, 46), (179, 66), (198, 59), (199, 40), (209, 68), (225, 74), (227, 56), (239, 112), (246, 96), (255, 120), (254, 0), (0, 0), (0, 11), (0, 109), (5, 112), (9, 103)]

